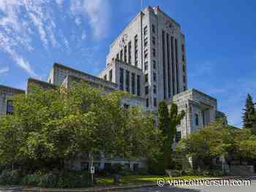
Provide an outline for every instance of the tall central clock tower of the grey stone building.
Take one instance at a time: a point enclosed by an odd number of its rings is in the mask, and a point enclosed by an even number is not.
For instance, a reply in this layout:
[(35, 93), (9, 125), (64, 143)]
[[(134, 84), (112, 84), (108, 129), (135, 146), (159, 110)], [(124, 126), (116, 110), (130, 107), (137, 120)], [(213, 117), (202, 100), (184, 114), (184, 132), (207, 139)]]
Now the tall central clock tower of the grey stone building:
[[(187, 90), (184, 34), (181, 26), (159, 7), (146, 7), (121, 31), (110, 45), (106, 70), (99, 77), (114, 82), (108, 69), (116, 60), (141, 69), (141, 90), (148, 110), (157, 110), (159, 101)], [(119, 75), (116, 83), (124, 90), (123, 82), (130, 83), (132, 72), (121, 68)]]

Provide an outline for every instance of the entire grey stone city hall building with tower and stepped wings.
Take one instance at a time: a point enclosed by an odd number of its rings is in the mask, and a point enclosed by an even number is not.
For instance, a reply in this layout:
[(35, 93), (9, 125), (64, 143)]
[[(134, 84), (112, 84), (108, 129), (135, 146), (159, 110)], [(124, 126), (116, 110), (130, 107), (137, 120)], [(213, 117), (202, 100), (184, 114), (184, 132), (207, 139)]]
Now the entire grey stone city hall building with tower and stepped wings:
[[(110, 45), (105, 70), (98, 76), (53, 64), (46, 81), (29, 78), (26, 92), (31, 93), (31, 83), (42, 88), (58, 85), (69, 88), (72, 81), (79, 80), (103, 88), (105, 93), (129, 92), (133, 97), (123, 98), (124, 107), (136, 105), (157, 112), (159, 101), (176, 103), (179, 111), (186, 112), (181, 125), (177, 126), (176, 143), (192, 131), (225, 117), (217, 110), (217, 99), (195, 89), (187, 90), (184, 34), (181, 26), (159, 7), (146, 7), (121, 31)], [(8, 98), (25, 91), (5, 86), (0, 86), (0, 91), (0, 116), (11, 114), (13, 107), (10, 107), (12, 102)], [(81, 162), (76, 162), (76, 167), (88, 166)], [(95, 161), (95, 166), (103, 168), (113, 162), (136, 169), (144, 165), (143, 161), (128, 162), (103, 155)]]

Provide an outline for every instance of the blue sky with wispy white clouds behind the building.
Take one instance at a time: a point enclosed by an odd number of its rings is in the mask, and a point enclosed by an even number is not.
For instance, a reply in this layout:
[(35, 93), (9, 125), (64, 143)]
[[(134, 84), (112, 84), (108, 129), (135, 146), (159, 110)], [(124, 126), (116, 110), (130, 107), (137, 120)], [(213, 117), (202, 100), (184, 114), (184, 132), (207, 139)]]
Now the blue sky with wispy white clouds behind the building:
[[(241, 126), (246, 94), (256, 98), (256, 1), (144, 0), (181, 24), (189, 88), (218, 99)], [(0, 0), (0, 84), (26, 88), (53, 62), (97, 74), (108, 47), (140, 11), (140, 0)], [(256, 100), (255, 100), (256, 101)]]

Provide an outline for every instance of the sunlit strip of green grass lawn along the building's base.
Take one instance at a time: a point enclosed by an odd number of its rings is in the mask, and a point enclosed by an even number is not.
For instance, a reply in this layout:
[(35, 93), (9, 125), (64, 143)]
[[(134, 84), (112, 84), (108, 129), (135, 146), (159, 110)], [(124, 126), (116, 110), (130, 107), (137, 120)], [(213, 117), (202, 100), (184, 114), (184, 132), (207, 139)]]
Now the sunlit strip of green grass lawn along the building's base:
[[(181, 176), (181, 177), (168, 177), (167, 175), (129, 175), (121, 177), (120, 184), (131, 183), (147, 183), (157, 182), (159, 179), (164, 180), (189, 180), (195, 178), (202, 178), (203, 176)], [(113, 177), (97, 177), (97, 185), (113, 185)]]

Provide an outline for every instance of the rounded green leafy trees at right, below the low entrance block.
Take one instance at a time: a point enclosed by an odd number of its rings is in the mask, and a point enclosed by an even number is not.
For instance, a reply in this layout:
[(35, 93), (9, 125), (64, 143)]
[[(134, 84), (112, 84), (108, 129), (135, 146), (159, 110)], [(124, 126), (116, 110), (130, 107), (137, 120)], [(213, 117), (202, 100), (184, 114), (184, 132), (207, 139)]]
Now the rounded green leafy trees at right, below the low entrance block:
[(256, 158), (255, 144), (249, 129), (233, 128), (217, 120), (181, 139), (177, 150), (191, 156), (195, 166), (211, 169), (211, 160), (222, 155), (227, 162)]

